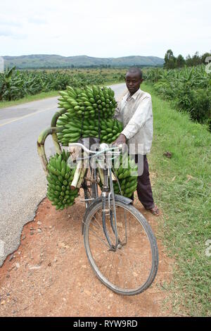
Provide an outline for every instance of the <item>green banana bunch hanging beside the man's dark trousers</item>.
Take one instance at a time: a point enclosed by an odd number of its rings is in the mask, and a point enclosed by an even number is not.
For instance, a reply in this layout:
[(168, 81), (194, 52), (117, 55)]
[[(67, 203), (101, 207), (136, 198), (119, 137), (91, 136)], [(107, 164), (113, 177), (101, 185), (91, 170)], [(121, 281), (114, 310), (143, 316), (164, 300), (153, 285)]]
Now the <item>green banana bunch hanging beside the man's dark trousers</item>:
[[(114, 164), (115, 175), (120, 183), (122, 195), (130, 198), (137, 186), (137, 170), (138, 166), (135, 164), (134, 159), (130, 159), (129, 156), (120, 158), (120, 167)], [(115, 194), (120, 194), (120, 188), (117, 182), (113, 182)]]

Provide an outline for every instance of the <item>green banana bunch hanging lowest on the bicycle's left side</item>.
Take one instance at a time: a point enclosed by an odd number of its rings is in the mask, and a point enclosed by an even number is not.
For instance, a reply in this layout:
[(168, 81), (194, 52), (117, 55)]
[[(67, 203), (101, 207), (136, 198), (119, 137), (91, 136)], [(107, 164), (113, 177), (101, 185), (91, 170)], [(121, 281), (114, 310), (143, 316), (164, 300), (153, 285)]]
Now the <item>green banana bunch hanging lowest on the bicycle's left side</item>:
[(70, 153), (63, 150), (62, 154), (51, 156), (47, 165), (49, 170), (47, 196), (52, 205), (56, 206), (56, 210), (63, 210), (72, 206), (79, 191), (78, 189), (70, 189), (75, 168), (71, 169), (68, 166), (69, 156)]

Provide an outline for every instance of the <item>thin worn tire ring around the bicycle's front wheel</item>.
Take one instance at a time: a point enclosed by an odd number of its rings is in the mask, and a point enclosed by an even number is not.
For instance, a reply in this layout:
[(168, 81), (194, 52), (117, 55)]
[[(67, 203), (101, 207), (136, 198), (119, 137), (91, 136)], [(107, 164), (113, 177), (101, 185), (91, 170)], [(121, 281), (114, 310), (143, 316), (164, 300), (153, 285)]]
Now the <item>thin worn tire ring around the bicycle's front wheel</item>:
[[(146, 237), (148, 237), (148, 242), (151, 247), (151, 270), (148, 273), (148, 277), (146, 278), (146, 281), (139, 285), (139, 287), (132, 288), (132, 289), (126, 289), (122, 287), (118, 287), (117, 285), (113, 284), (108, 280), (105, 275), (99, 270), (99, 267), (96, 265), (96, 261), (94, 259), (93, 253), (91, 253), (90, 249), (90, 244), (89, 244), (89, 232), (90, 232), (90, 225), (91, 225), (91, 220), (94, 217), (96, 211), (101, 209), (102, 202), (101, 201), (96, 201), (91, 204), (91, 208), (89, 212), (87, 213), (86, 218), (84, 219), (84, 246), (87, 254), (87, 258), (89, 260), (89, 263), (91, 265), (91, 268), (94, 270), (94, 273), (98, 277), (101, 282), (103, 282), (104, 285), (106, 285), (109, 289), (113, 290), (113, 292), (117, 294), (122, 294), (122, 295), (136, 295), (140, 294), (141, 292), (145, 291), (148, 289), (148, 287), (151, 286), (153, 281), (155, 280), (155, 276), (158, 272), (158, 246), (157, 242), (155, 239), (155, 235), (153, 235), (153, 231), (151, 229), (151, 226), (148, 224), (146, 218), (132, 205), (127, 205), (124, 204), (122, 201), (115, 201), (116, 207), (122, 207), (125, 209), (127, 212), (131, 213), (136, 220), (138, 220), (138, 223), (143, 227), (143, 230), (146, 232)], [(93, 223), (92, 223), (93, 224)], [(125, 245), (126, 246), (126, 245)], [(124, 248), (124, 246), (123, 246)], [(135, 264), (134, 264), (135, 266)], [(135, 266), (136, 267), (136, 266)], [(129, 268), (126, 268), (129, 270)], [(120, 277), (120, 276), (118, 276)]]

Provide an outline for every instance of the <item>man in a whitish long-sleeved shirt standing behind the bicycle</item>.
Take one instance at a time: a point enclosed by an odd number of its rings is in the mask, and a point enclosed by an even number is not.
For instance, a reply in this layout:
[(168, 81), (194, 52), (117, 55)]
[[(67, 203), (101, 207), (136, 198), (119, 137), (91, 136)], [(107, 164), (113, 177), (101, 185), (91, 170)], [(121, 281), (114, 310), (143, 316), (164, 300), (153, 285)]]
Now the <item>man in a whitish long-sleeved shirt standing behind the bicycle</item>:
[[(142, 72), (139, 68), (130, 68), (126, 74), (125, 82), (128, 92), (119, 102), (115, 118), (122, 122), (124, 130), (113, 144), (129, 145), (130, 154), (135, 154), (135, 161), (138, 158), (143, 162), (143, 173), (138, 176), (137, 194), (141, 204), (159, 216), (159, 209), (153, 201), (153, 193), (148, 173), (148, 161), (146, 154), (151, 151), (153, 140), (153, 111), (151, 94), (141, 91), (140, 85), (143, 82)], [(139, 147), (142, 147), (141, 151)], [(132, 151), (132, 147), (133, 151)], [(142, 172), (142, 171), (141, 171)], [(134, 196), (132, 196), (132, 200)]]

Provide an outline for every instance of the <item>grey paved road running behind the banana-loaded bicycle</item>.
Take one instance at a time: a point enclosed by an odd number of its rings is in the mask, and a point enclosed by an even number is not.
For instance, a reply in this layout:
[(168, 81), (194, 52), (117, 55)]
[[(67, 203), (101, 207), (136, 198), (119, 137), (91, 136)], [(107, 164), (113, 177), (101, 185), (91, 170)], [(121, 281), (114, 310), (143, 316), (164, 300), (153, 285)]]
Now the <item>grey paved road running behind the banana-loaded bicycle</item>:
[[(116, 99), (125, 85), (111, 86)], [(0, 109), (0, 266), (20, 244), (23, 226), (46, 195), (46, 177), (37, 155), (39, 133), (51, 123), (57, 97)], [(46, 154), (53, 152), (51, 137)]]

